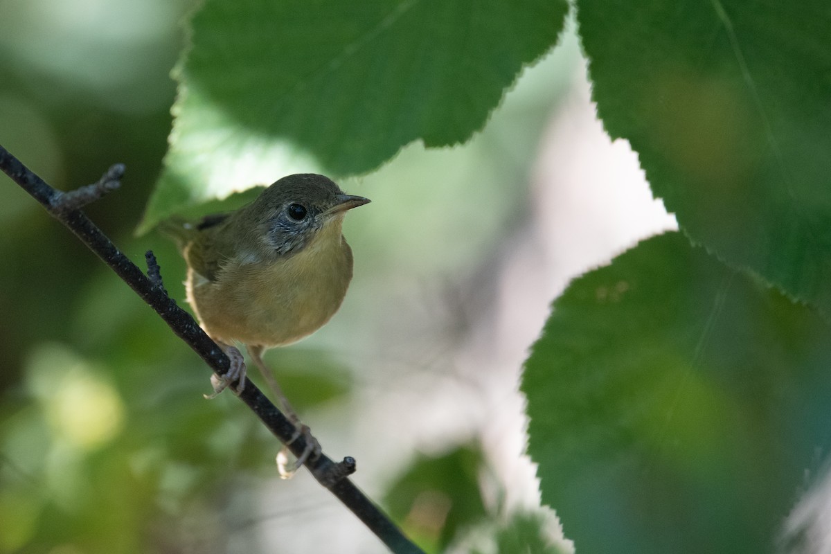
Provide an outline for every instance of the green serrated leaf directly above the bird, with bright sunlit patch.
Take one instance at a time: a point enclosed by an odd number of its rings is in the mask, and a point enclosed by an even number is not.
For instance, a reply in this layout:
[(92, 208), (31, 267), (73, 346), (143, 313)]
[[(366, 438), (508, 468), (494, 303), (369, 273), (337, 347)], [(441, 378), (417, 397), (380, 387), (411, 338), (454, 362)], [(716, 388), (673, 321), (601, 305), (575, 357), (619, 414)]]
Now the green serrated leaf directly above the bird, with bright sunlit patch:
[(361, 174), (414, 140), (468, 140), (553, 46), (567, 10), (563, 0), (207, 0), (140, 231), (293, 171)]

